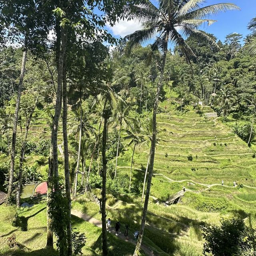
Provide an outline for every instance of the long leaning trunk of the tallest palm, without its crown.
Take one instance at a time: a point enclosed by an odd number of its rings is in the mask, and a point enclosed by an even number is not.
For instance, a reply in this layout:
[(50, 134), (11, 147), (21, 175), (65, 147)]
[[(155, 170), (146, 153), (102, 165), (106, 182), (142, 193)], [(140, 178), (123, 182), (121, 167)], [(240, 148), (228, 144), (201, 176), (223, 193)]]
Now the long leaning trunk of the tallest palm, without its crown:
[(157, 112), (157, 107), (158, 107), (160, 90), (162, 88), (164, 66), (165, 66), (167, 46), (168, 46), (168, 35), (169, 35), (169, 32), (167, 31), (165, 43), (164, 43), (164, 51), (163, 51), (163, 56), (162, 56), (161, 73), (160, 73), (160, 78), (159, 78), (158, 87), (157, 87), (157, 91), (156, 91), (156, 99), (155, 99), (155, 103), (154, 103), (153, 116), (152, 116), (152, 141), (151, 141), (151, 149), (150, 149), (150, 165), (148, 168), (148, 184), (147, 184), (145, 202), (144, 202), (144, 207), (143, 207), (143, 212), (142, 212), (140, 234), (138, 237), (138, 242), (136, 244), (136, 248), (135, 248), (133, 256), (138, 256), (140, 254), (140, 246), (142, 243), (142, 238), (143, 238), (144, 228), (145, 228), (145, 223), (146, 223), (146, 215), (147, 215), (147, 211), (148, 211), (148, 200), (149, 200), (149, 195), (150, 195), (150, 186), (151, 186), (151, 180), (152, 180), (152, 174), (153, 174), (153, 168), (154, 168), (154, 157), (155, 157), (155, 148), (156, 148), (156, 112)]

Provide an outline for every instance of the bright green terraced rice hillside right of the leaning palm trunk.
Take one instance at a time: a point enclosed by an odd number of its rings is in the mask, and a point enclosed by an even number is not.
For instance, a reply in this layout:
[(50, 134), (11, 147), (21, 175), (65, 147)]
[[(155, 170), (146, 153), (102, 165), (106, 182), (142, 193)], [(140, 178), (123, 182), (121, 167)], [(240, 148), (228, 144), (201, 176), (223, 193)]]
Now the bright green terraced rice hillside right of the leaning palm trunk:
[[(212, 110), (205, 108), (204, 112)], [(213, 197), (216, 195), (213, 190), (226, 188), (224, 191), (234, 199), (232, 193), (238, 193), (238, 189), (233, 187), (236, 181), (243, 184), (244, 189), (250, 190), (253, 201), (256, 200), (256, 189), (250, 188), (256, 187), (254, 152), (218, 118), (207, 118), (205, 114), (200, 116), (190, 110), (179, 116), (160, 113), (157, 122), (161, 140), (155, 154), (152, 196), (162, 201), (168, 200), (185, 186), (188, 191), (202, 192), (200, 195), (207, 190), (208, 196)], [(148, 154), (147, 146), (137, 147), (134, 177), (144, 175)], [(131, 149), (120, 156), (119, 173), (129, 173), (129, 156)], [(225, 198), (226, 193), (222, 194)], [(185, 204), (186, 200), (183, 201)]]

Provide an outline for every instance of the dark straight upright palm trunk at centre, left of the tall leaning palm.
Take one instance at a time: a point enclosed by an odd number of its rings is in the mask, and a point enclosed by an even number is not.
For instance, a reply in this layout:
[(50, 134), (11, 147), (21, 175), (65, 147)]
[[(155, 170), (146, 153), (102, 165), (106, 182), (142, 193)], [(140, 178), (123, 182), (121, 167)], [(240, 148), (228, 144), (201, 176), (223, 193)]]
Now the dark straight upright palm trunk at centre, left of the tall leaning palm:
[(107, 124), (109, 113), (108, 110), (103, 110), (104, 128), (102, 134), (102, 200), (101, 200), (101, 220), (102, 220), (102, 252), (103, 256), (108, 255), (107, 230), (106, 230), (106, 179), (107, 179)]

